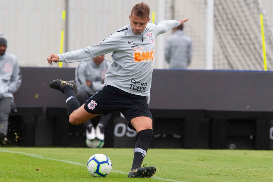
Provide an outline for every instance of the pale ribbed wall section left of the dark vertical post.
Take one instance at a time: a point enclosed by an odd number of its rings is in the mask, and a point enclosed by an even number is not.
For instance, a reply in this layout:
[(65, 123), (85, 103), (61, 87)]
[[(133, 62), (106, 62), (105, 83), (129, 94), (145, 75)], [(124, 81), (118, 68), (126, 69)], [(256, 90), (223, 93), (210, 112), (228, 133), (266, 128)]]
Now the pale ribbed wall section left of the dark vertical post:
[(58, 52), (63, 8), (64, 1), (0, 1), (0, 32), (20, 66), (47, 66), (48, 55)]

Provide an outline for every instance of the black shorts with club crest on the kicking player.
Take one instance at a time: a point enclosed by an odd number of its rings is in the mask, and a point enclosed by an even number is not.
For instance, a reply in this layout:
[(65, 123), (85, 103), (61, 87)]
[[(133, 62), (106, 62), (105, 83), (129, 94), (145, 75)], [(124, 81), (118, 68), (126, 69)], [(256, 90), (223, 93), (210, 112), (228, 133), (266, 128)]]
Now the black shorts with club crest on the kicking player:
[[(91, 96), (85, 102), (84, 109), (89, 113), (103, 115), (120, 111), (128, 121), (139, 116), (153, 119), (145, 96), (131, 94), (111, 85), (104, 86)], [(129, 128), (134, 129), (130, 122)]]

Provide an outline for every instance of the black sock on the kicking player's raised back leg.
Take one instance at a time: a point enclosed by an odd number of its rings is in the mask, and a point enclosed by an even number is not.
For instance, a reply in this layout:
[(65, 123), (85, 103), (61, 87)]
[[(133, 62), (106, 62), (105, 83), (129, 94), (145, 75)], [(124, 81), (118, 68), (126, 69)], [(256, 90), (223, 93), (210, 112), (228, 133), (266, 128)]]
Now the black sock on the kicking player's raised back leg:
[(64, 94), (66, 96), (66, 111), (69, 116), (74, 110), (80, 107), (80, 104), (76, 98), (74, 90), (71, 87), (64, 87)]

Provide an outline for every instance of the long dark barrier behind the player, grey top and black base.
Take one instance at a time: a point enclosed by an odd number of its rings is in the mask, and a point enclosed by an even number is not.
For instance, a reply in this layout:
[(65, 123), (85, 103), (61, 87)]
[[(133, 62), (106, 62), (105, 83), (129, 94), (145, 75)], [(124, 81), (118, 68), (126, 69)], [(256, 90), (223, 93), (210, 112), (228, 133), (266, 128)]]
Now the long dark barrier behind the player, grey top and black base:
[[(57, 136), (57, 129), (69, 135), (72, 126), (60, 122), (67, 117), (65, 95), (49, 87), (55, 79), (74, 80), (75, 68), (21, 67), (21, 72), (22, 85), (14, 94), (17, 107), (42, 108), (31, 146), (82, 143), (82, 138)], [(152, 77), (149, 107), (157, 138), (151, 147), (273, 149), (273, 72), (154, 69)], [(50, 108), (63, 111), (53, 117)], [(105, 143), (110, 147), (117, 124), (114, 118), (111, 123)]]

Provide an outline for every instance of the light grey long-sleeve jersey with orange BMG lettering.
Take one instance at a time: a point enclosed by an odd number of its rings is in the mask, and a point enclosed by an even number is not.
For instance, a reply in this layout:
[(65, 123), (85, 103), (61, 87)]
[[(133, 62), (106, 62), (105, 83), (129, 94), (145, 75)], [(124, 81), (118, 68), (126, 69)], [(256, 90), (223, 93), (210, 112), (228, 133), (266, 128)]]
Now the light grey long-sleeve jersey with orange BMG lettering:
[(155, 38), (179, 26), (179, 21), (160, 21), (147, 24), (141, 35), (135, 35), (130, 24), (106, 37), (99, 44), (77, 51), (59, 54), (60, 62), (79, 62), (113, 52), (113, 63), (105, 75), (105, 85), (128, 93), (150, 96), (154, 64)]

